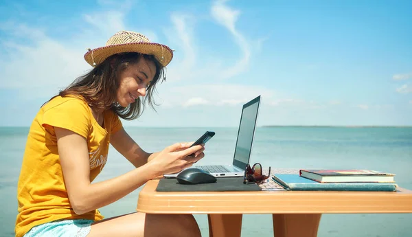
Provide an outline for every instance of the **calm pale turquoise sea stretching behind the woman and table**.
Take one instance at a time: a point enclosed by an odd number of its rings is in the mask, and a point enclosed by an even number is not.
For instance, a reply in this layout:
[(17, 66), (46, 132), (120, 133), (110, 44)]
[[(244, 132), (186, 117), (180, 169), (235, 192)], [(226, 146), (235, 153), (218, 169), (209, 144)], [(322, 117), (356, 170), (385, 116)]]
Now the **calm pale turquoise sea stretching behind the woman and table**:
[[(0, 127), (0, 236), (14, 236), (17, 214), (16, 184), (27, 139), (26, 127)], [(238, 129), (126, 127), (133, 139), (148, 152), (175, 142), (190, 142), (214, 131), (205, 157), (198, 164), (231, 163)], [(411, 127), (258, 127), (250, 163), (263, 168), (369, 169), (396, 174), (402, 188), (412, 190)], [(111, 179), (133, 166), (111, 147), (108, 161), (95, 182)], [(141, 188), (123, 199), (102, 207), (106, 218), (134, 212)], [(253, 200), (251, 200), (253, 201)], [(209, 236), (207, 215), (196, 214), (202, 236)], [(242, 236), (273, 236), (269, 214), (247, 214)], [(412, 214), (323, 214), (319, 237), (412, 236)]]

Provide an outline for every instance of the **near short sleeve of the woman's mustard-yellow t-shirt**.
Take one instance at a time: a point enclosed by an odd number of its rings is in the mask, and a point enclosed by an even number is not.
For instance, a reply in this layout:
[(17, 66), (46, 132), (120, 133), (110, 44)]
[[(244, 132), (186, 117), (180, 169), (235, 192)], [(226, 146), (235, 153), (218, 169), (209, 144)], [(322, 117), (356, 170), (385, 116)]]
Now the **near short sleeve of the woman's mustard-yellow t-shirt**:
[(91, 125), (87, 104), (79, 99), (69, 99), (43, 112), (42, 126), (65, 128), (87, 138)]

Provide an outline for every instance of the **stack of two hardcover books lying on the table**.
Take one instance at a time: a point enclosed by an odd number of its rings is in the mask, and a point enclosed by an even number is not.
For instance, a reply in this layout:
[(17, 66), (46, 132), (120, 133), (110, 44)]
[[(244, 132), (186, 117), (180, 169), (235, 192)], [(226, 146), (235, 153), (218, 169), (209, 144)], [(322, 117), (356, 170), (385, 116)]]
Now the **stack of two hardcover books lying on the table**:
[(286, 190), (396, 191), (395, 174), (374, 170), (299, 170), (299, 174), (273, 174)]

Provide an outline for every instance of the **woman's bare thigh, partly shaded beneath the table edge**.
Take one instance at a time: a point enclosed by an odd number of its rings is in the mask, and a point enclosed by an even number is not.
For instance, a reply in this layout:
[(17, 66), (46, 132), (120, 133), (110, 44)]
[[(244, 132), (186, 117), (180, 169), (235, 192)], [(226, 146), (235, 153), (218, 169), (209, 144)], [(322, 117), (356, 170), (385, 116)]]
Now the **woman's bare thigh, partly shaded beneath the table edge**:
[(152, 237), (152, 236), (194, 236), (201, 232), (192, 215), (144, 214), (136, 212), (108, 218), (91, 225), (87, 237)]

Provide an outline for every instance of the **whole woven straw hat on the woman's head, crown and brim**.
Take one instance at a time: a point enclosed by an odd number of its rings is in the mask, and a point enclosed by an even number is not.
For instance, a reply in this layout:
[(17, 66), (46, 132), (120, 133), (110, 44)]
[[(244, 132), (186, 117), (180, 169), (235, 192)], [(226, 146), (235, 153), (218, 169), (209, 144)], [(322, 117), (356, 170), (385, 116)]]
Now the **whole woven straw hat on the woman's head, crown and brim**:
[(84, 59), (92, 67), (102, 63), (108, 56), (125, 52), (154, 55), (163, 67), (173, 58), (173, 51), (167, 45), (152, 43), (143, 34), (124, 30), (111, 36), (106, 46), (88, 50), (89, 52), (84, 54)]

